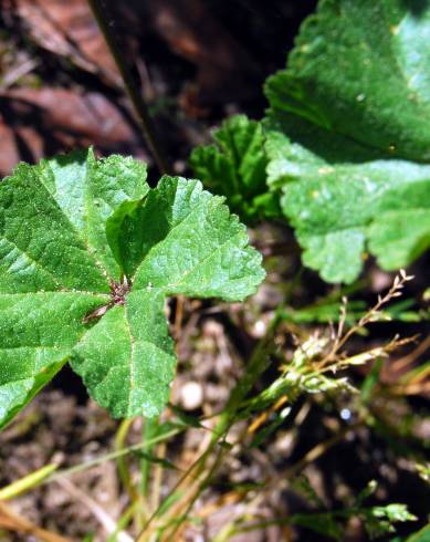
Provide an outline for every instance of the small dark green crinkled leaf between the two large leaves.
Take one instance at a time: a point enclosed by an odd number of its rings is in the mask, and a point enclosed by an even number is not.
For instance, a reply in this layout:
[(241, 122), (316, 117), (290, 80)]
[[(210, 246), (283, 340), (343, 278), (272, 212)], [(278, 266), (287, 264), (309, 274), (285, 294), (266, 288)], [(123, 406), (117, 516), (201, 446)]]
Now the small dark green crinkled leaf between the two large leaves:
[(204, 185), (227, 197), (243, 220), (280, 215), (277, 200), (268, 191), (264, 134), (261, 123), (234, 115), (213, 131), (216, 145), (193, 149), (190, 166)]

